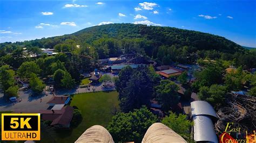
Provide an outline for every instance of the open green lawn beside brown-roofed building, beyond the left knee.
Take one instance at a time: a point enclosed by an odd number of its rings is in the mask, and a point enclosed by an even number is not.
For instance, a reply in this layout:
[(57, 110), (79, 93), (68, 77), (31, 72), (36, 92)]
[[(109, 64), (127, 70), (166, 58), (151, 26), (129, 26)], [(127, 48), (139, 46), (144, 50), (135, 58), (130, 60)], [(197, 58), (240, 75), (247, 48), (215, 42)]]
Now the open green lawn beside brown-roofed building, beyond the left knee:
[(119, 111), (118, 92), (91, 92), (73, 96), (71, 106), (77, 106), (82, 112), (83, 121), (73, 130), (58, 131), (56, 142), (75, 142), (78, 137), (93, 125), (107, 126), (113, 116), (113, 110)]

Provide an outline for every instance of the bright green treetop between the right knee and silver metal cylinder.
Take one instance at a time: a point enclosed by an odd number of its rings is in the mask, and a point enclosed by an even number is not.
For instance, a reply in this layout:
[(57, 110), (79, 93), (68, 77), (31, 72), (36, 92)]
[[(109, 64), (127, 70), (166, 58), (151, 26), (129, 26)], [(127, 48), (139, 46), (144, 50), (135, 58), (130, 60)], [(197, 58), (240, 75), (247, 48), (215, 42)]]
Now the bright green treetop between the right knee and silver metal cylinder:
[(187, 119), (186, 115), (169, 112), (170, 115), (163, 118), (161, 123), (170, 127), (174, 132), (181, 135), (186, 140), (190, 139), (190, 127), (193, 125), (192, 121)]

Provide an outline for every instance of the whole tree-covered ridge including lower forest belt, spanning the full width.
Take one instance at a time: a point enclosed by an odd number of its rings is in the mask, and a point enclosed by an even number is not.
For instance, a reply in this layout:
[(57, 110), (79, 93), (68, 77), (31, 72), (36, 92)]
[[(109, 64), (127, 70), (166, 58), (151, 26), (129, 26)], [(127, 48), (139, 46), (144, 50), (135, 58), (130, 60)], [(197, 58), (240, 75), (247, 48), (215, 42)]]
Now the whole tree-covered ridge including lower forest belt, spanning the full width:
[[(76, 45), (82, 48), (77, 49)], [(124, 51), (147, 55), (162, 64), (190, 63), (198, 58), (223, 59), (233, 60), (234, 65), (243, 65), (245, 68), (255, 66), (252, 61), (256, 56), (255, 52), (218, 35), (134, 24), (100, 25), (58, 37), (5, 42), (0, 44), (0, 55), (12, 53), (18, 47), (27, 47), (32, 52), (36, 48), (56, 48), (57, 51), (75, 51), (95, 59), (119, 56)]]

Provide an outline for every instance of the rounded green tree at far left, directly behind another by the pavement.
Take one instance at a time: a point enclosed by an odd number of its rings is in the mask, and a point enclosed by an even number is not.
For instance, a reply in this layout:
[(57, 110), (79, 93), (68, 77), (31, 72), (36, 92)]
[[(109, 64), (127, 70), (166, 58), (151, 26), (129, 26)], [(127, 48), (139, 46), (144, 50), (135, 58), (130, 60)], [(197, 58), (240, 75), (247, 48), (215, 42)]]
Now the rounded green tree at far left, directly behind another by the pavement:
[(22, 65), (18, 68), (17, 73), (21, 78), (29, 78), (32, 73), (39, 74), (40, 73), (39, 66), (34, 62), (23, 62)]

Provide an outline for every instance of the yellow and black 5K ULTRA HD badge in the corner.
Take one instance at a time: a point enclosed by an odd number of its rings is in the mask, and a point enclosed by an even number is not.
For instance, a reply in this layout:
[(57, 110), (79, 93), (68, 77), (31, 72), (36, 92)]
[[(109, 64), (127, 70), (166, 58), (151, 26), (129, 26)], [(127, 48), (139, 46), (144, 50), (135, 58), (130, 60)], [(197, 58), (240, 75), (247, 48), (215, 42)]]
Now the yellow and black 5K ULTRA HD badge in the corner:
[(2, 113), (2, 140), (40, 140), (40, 114)]

